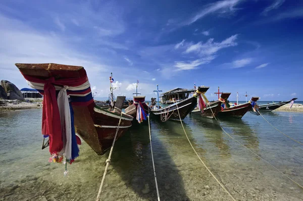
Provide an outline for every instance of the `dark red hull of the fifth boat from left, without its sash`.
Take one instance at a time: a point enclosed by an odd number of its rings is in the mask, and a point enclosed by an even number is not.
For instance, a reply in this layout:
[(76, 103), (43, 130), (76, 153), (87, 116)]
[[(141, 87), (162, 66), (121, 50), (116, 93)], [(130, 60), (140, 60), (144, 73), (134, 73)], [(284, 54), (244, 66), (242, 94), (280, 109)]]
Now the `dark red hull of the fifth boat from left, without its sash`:
[(246, 112), (251, 109), (250, 103), (244, 103), (236, 105), (232, 108), (226, 108), (223, 111), (219, 111), (218, 117), (233, 117), (233, 118), (242, 118)]

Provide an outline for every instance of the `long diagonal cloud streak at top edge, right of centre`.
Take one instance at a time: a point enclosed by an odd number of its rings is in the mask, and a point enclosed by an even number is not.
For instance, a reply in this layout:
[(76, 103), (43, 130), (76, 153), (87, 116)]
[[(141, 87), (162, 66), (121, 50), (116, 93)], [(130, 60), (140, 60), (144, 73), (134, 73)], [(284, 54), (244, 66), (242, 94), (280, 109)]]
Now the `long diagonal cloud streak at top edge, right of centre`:
[(224, 0), (210, 4), (205, 9), (203, 9), (198, 14), (196, 14), (193, 18), (191, 18), (189, 21), (185, 22), (185, 25), (190, 25), (195, 21), (212, 13), (234, 12), (235, 11), (234, 6), (236, 6), (239, 2), (241, 2), (241, 0)]

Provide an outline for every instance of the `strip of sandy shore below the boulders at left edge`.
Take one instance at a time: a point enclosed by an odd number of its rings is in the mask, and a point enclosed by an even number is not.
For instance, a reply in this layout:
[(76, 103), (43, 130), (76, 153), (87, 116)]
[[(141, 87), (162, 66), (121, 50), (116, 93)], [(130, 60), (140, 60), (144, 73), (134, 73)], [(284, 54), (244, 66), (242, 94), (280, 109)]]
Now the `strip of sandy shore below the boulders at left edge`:
[(30, 101), (22, 102), (19, 100), (0, 100), (0, 113), (12, 111), (12, 110), (42, 108), (42, 104), (40, 100), (35, 100), (35, 101), (30, 100)]

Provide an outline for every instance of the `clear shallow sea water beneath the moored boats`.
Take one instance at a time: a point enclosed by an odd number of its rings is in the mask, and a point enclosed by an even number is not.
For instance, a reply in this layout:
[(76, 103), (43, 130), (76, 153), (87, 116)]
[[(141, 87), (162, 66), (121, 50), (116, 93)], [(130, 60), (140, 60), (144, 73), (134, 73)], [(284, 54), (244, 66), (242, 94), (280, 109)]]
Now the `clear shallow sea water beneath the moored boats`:
[[(0, 113), (0, 200), (95, 200), (105, 168), (82, 141), (80, 156), (68, 165), (49, 163), (41, 150), (41, 110)], [(281, 131), (303, 142), (303, 113), (263, 112)], [(188, 115), (187, 135), (214, 175), (236, 200), (302, 200), (303, 189), (233, 138), (303, 185), (303, 146), (271, 127), (261, 116), (213, 120)], [(161, 200), (231, 200), (191, 149), (180, 121), (151, 120)], [(148, 126), (137, 125), (114, 148), (102, 200), (157, 200)]]

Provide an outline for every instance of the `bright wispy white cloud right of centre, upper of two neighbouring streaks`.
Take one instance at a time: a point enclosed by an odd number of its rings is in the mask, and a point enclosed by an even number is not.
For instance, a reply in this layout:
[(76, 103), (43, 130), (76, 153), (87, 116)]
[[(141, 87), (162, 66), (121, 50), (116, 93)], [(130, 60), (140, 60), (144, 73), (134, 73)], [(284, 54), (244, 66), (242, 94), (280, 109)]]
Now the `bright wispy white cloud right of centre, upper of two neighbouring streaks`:
[(206, 43), (200, 41), (196, 44), (190, 45), (185, 50), (185, 53), (196, 52), (200, 55), (212, 55), (222, 48), (236, 46), (237, 43), (235, 42), (235, 40), (237, 39), (237, 36), (237, 34), (232, 35), (229, 38), (223, 40), (222, 42), (214, 42), (213, 38), (209, 39)]

